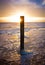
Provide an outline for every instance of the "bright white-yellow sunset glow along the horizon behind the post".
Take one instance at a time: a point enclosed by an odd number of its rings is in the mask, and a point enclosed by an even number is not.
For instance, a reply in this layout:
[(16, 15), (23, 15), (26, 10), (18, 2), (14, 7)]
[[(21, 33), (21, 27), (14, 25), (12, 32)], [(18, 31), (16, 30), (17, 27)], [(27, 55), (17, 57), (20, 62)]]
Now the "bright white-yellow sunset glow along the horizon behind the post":
[(25, 12), (18, 12), (15, 15), (2, 17), (1, 20), (9, 22), (20, 22), (20, 16), (24, 16), (25, 22), (37, 22), (43, 20), (43, 17), (30, 17)]

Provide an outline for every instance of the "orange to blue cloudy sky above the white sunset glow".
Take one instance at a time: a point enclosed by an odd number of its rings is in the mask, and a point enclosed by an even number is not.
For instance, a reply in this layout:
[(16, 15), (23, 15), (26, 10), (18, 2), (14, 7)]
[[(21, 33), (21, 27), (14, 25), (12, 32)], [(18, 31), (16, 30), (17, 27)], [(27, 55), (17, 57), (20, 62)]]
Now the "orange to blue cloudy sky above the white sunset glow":
[(28, 16), (45, 18), (45, 0), (0, 0), (0, 18), (24, 11)]

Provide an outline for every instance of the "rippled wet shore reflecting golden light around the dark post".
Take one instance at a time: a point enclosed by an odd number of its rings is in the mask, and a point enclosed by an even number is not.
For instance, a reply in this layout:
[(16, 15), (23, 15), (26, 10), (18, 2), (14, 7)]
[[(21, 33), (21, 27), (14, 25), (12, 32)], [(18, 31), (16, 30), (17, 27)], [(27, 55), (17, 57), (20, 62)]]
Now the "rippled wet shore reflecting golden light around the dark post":
[[(30, 23), (29, 23), (30, 24)], [(45, 65), (45, 27), (25, 28), (25, 51), (33, 54), (21, 55), (19, 25), (1, 24), (0, 65)], [(8, 27), (9, 26), (9, 27)], [(41, 23), (40, 23), (40, 26)]]

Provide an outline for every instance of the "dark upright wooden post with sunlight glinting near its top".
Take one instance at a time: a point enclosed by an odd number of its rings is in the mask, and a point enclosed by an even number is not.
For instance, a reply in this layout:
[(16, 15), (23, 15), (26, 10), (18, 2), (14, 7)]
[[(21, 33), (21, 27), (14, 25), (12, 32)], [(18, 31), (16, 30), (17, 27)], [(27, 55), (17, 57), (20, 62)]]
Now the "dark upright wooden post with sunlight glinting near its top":
[(24, 51), (24, 16), (20, 16), (20, 52)]

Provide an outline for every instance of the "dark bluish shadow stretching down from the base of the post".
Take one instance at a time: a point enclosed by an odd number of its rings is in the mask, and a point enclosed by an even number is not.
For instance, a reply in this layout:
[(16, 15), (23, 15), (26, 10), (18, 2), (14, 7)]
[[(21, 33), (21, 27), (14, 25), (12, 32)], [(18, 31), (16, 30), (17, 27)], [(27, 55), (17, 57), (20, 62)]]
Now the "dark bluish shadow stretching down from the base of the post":
[(32, 57), (32, 54), (21, 55), (21, 57), (20, 57), (21, 65), (30, 65), (31, 57)]

